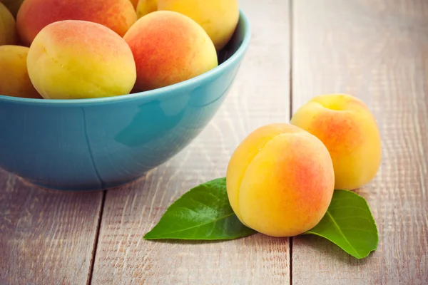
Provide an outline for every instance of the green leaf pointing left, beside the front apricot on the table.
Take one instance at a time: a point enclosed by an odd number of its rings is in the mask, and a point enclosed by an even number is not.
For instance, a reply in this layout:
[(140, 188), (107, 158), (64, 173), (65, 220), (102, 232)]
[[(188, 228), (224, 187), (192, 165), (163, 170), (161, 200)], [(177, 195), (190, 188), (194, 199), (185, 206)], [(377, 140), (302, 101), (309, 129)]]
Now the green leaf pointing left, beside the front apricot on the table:
[(223, 177), (186, 192), (168, 207), (144, 239), (237, 239), (255, 233), (230, 207)]

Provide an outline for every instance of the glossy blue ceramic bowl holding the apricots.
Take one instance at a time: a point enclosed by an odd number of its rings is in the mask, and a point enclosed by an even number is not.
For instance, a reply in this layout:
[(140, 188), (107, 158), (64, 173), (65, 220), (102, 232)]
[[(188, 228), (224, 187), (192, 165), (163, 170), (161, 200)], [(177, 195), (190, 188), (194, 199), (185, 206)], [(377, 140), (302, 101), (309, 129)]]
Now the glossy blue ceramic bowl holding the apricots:
[(55, 190), (103, 190), (136, 180), (188, 145), (228, 93), (250, 41), (240, 12), (219, 66), (188, 81), (109, 98), (0, 95), (0, 167)]

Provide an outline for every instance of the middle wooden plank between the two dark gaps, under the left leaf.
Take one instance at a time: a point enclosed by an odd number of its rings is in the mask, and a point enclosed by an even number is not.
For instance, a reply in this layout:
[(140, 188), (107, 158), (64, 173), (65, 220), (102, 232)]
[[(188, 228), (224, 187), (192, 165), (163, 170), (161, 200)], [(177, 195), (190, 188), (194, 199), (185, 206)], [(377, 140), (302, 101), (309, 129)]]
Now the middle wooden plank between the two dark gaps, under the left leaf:
[(143, 240), (190, 187), (225, 175), (230, 155), (250, 131), (289, 118), (288, 3), (240, 5), (253, 38), (233, 89), (189, 147), (136, 184), (108, 190), (92, 284), (289, 284), (288, 239)]

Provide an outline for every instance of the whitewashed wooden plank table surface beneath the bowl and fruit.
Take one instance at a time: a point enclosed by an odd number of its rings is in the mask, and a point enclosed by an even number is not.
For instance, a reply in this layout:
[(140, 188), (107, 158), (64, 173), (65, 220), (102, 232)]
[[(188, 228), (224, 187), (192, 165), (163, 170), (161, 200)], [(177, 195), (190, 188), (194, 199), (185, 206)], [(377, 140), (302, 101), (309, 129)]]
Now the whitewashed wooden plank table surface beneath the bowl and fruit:
[[(253, 38), (223, 107), (172, 160), (105, 192), (39, 190), (0, 172), (0, 284), (428, 284), (428, 1), (240, 0)], [(382, 134), (357, 190), (379, 247), (357, 261), (320, 237), (148, 242), (180, 195), (225, 175), (250, 131), (323, 93), (367, 103)]]

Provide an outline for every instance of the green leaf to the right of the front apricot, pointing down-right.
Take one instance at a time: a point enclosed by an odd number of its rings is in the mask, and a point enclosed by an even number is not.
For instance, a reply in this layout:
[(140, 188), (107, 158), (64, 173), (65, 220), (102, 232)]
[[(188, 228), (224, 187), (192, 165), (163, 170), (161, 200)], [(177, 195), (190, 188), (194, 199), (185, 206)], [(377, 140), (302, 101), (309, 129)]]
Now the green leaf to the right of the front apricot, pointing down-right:
[(374, 251), (379, 240), (366, 200), (347, 190), (335, 190), (327, 213), (305, 234), (325, 237), (357, 259)]

